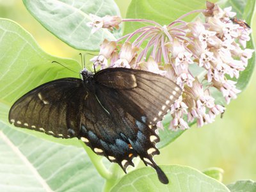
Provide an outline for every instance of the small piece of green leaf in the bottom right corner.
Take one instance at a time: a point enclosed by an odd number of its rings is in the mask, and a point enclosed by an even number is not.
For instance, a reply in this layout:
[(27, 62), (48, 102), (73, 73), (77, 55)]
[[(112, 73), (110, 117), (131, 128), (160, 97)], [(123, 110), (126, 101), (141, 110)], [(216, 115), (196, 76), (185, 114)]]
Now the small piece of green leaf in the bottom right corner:
[(253, 180), (238, 180), (227, 187), (231, 192), (255, 192), (256, 182)]

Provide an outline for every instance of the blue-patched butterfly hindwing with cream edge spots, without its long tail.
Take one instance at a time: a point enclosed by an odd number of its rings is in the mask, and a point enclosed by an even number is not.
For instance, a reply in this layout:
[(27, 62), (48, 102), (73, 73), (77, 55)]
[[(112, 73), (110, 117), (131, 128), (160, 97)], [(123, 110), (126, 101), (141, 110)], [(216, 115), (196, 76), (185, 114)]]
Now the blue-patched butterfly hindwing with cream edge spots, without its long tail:
[(155, 146), (159, 137), (156, 127), (150, 129), (116, 102), (115, 92), (113, 88), (98, 87), (95, 95), (88, 96), (82, 115), (81, 140), (125, 171), (128, 165), (133, 166), (132, 159), (136, 156), (151, 163), (152, 155), (159, 154)]

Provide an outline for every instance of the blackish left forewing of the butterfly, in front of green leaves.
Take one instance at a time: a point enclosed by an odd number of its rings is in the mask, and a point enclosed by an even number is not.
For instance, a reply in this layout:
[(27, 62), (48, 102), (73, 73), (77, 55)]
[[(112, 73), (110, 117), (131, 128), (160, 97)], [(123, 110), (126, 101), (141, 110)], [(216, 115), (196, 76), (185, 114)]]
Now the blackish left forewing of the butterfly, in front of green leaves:
[(79, 134), (86, 94), (81, 79), (64, 78), (42, 84), (13, 104), (9, 122), (59, 138), (75, 137)]

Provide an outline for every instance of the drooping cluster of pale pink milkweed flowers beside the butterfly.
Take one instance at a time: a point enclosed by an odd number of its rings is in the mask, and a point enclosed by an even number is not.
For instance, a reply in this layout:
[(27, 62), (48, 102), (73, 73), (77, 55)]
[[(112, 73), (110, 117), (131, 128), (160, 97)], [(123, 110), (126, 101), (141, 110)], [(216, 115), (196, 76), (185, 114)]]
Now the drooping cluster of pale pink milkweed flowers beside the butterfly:
[[(236, 13), (231, 12), (231, 7), (222, 10), (209, 2), (206, 7), (164, 26), (152, 20), (117, 16), (93, 16), (95, 20), (88, 24), (95, 32), (100, 28), (118, 28), (121, 21), (148, 22), (148, 26), (116, 41), (104, 40), (99, 55), (92, 61), (100, 68), (126, 67), (155, 72), (179, 84), (183, 93), (170, 109), (170, 129), (174, 131), (188, 129), (188, 123), (194, 121), (201, 127), (223, 113), (225, 108), (216, 103), (212, 90), (220, 91), (227, 104), (236, 99), (240, 90), (236, 88), (236, 81), (229, 79), (238, 78), (252, 58), (253, 50), (246, 49), (251, 29), (232, 22)], [(198, 12), (204, 14), (204, 21), (182, 20)], [(141, 48), (142, 44), (145, 47)], [(198, 68), (200, 76), (191, 68)], [(161, 123), (157, 125), (161, 127)]]

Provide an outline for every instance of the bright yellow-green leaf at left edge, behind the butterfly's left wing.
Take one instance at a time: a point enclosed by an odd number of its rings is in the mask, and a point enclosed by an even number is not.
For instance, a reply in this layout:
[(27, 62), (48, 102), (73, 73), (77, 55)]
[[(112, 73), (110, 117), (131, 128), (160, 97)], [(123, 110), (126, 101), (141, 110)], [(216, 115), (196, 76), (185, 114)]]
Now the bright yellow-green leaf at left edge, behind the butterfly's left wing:
[[(62, 63), (77, 71), (77, 74), (52, 61)], [(19, 24), (0, 19), (0, 116), (6, 124), (9, 124), (8, 111), (19, 97), (48, 81), (79, 77), (80, 70), (77, 61), (57, 58), (42, 51), (34, 38)], [(74, 140), (58, 140), (40, 132), (29, 132), (41, 138), (77, 145)]]

